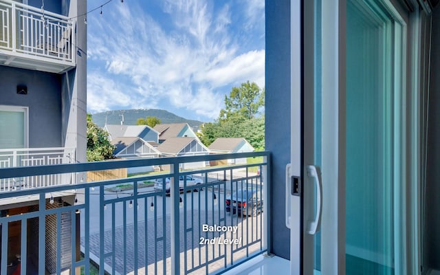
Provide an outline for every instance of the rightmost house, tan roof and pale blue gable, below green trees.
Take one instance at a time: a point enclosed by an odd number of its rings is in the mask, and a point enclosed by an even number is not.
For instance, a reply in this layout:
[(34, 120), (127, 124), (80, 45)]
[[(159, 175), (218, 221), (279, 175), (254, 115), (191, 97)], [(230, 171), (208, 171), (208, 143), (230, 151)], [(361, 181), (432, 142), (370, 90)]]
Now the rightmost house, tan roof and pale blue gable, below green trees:
[[(211, 153), (243, 153), (252, 152), (254, 147), (243, 137), (218, 137), (208, 146)], [(228, 164), (246, 164), (246, 158), (228, 159)], [(212, 166), (212, 165), (211, 165)]]

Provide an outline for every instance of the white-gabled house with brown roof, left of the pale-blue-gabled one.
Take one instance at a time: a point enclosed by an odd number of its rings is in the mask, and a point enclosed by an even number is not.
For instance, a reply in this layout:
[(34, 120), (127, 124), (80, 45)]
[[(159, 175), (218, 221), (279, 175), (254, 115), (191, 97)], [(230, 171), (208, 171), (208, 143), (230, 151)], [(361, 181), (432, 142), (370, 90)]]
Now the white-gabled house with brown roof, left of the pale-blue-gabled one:
[[(168, 137), (162, 144), (157, 146), (157, 151), (160, 152), (162, 157), (188, 157), (208, 155), (209, 153), (209, 149), (195, 137)], [(179, 168), (188, 169), (205, 166), (206, 162), (190, 162), (182, 164)]]

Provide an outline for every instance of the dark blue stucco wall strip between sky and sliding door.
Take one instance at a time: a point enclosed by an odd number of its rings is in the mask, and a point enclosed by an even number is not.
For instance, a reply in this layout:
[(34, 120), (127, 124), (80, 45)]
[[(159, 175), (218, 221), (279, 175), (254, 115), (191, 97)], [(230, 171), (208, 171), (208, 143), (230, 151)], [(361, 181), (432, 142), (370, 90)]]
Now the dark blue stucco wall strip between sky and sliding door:
[[(290, 162), (290, 2), (265, 1), (266, 94), (265, 148), (272, 155), (270, 252), (289, 258), (290, 236), (285, 226), (285, 166)], [(278, 214), (277, 214), (278, 213)]]

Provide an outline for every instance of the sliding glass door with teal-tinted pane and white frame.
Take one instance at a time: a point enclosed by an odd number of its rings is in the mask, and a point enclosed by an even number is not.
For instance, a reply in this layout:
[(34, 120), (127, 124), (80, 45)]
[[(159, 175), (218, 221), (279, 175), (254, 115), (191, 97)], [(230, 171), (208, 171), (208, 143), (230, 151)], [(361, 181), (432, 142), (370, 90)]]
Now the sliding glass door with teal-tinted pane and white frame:
[(292, 37), (302, 41), (292, 39), (291, 274), (415, 274), (408, 255), (417, 236), (406, 229), (415, 207), (407, 201), (416, 201), (408, 175), (417, 173), (407, 161), (417, 144), (406, 138), (417, 130), (406, 109), (415, 93), (410, 11), (398, 1), (313, 3), (291, 2), (303, 9), (291, 13)]

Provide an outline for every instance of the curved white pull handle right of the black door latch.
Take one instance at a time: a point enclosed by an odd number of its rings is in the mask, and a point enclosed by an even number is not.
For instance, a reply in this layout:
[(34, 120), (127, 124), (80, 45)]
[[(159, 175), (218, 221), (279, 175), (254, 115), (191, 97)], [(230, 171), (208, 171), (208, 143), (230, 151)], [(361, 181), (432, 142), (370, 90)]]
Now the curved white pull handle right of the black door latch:
[(314, 178), (316, 185), (316, 215), (313, 221), (308, 221), (306, 225), (307, 234), (314, 235), (320, 229), (321, 212), (322, 212), (322, 177), (318, 166), (307, 166), (307, 177)]

